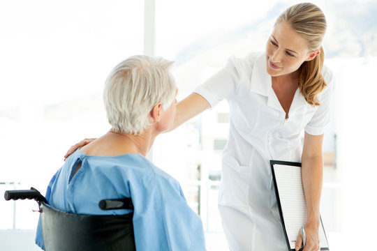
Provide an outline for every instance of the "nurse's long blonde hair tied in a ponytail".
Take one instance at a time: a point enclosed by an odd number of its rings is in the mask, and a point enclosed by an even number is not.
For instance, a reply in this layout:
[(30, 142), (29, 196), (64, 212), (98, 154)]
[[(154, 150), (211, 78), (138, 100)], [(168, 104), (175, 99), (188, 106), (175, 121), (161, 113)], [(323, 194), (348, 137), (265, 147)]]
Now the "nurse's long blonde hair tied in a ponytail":
[(322, 10), (313, 3), (298, 3), (285, 10), (276, 20), (275, 25), (286, 22), (307, 42), (310, 52), (320, 50), (311, 61), (304, 61), (300, 67), (299, 88), (306, 102), (312, 106), (320, 105), (318, 94), (326, 86), (322, 75), (325, 52), (322, 40), (327, 24)]

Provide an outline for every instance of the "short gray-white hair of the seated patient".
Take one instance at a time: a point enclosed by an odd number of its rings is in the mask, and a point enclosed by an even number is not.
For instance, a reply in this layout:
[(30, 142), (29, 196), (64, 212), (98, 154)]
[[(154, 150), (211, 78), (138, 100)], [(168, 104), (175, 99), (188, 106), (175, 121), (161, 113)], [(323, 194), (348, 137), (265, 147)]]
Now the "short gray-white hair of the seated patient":
[(151, 126), (149, 112), (159, 102), (163, 110), (175, 100), (172, 61), (155, 56), (131, 56), (111, 71), (103, 100), (112, 129), (137, 135)]

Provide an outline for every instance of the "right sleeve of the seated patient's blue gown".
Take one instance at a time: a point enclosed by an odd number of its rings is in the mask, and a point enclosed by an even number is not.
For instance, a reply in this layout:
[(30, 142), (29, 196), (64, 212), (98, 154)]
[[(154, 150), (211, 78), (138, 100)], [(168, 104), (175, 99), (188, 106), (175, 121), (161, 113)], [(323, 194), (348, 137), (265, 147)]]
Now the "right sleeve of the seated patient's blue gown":
[(205, 250), (199, 215), (188, 206), (179, 183), (159, 173), (132, 189), (136, 249)]

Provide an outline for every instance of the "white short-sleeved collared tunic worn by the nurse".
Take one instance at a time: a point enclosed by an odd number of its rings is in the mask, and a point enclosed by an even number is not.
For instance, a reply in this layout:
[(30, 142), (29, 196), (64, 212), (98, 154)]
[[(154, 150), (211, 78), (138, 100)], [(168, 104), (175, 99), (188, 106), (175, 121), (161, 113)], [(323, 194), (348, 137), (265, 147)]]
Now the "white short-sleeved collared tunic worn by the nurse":
[(287, 250), (269, 160), (300, 162), (302, 130), (310, 135), (325, 132), (330, 121), (332, 74), (324, 67), (323, 76), (327, 87), (318, 96), (320, 106), (309, 105), (297, 89), (288, 119), (272, 89), (265, 54), (232, 57), (195, 89), (211, 107), (224, 98), (229, 104), (219, 211), (230, 250)]

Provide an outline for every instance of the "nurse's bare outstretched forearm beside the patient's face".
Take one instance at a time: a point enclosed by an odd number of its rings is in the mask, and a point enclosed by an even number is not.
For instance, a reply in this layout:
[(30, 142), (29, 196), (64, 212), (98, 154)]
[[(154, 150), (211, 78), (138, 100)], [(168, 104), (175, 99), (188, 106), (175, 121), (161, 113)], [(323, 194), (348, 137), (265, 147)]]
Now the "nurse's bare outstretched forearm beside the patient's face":
[(175, 115), (175, 120), (171, 130), (181, 126), (182, 123), (204, 112), (209, 107), (211, 106), (205, 98), (200, 96), (198, 93), (191, 93), (190, 96), (181, 102), (178, 102), (177, 114)]

